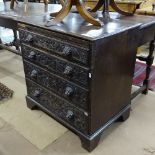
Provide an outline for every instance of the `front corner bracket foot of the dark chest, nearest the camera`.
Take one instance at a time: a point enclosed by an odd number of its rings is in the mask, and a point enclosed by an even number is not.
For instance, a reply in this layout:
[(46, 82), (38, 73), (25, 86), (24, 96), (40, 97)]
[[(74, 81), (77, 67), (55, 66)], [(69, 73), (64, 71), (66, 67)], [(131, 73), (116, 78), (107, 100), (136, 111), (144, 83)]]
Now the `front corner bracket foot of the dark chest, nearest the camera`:
[(99, 141), (100, 141), (100, 137), (101, 137), (101, 134), (97, 135), (96, 137), (94, 137), (92, 140), (88, 140), (84, 137), (80, 137), (81, 139), (81, 145), (84, 149), (86, 149), (87, 151), (91, 152), (92, 150), (94, 150)]

